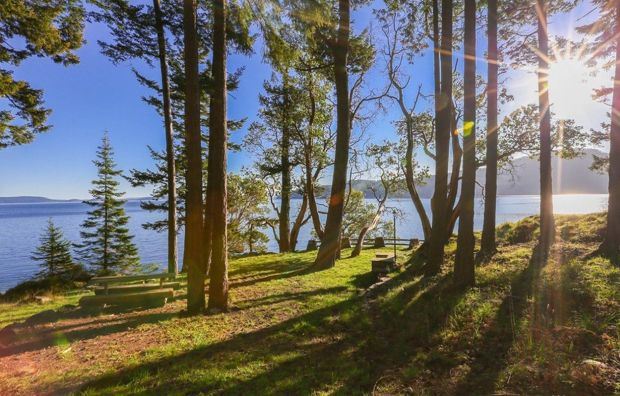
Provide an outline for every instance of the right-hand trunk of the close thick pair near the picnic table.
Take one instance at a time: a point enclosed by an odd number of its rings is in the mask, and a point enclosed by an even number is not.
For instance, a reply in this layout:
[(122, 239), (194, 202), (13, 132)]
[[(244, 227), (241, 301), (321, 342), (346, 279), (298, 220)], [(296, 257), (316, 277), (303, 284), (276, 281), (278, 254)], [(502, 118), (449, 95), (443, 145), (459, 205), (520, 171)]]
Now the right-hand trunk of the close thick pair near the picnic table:
[(211, 220), (209, 309), (228, 309), (226, 208), (226, 0), (213, 1), (213, 93), (209, 119), (207, 200)]

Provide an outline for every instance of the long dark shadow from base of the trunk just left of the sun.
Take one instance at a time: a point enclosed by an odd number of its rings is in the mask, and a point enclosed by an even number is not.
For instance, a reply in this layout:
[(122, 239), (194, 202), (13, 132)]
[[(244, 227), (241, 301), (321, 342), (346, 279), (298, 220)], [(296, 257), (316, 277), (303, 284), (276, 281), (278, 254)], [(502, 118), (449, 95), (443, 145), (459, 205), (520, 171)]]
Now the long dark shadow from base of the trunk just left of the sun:
[[(528, 266), (510, 285), (510, 292), (502, 300), (491, 326), (472, 349), (475, 360), (467, 376), (457, 385), (456, 394), (492, 394), (500, 374), (508, 367), (508, 354), (518, 331), (515, 327), (530, 306), (536, 284), (545, 265), (538, 246), (534, 248)], [(536, 301), (534, 302), (536, 304)]]

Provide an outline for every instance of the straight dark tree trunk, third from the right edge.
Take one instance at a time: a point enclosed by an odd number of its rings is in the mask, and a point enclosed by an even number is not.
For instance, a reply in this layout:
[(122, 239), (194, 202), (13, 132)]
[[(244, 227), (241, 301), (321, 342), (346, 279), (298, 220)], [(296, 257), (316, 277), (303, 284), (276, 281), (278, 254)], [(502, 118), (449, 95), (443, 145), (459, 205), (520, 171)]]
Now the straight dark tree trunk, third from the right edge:
[(482, 225), (481, 257), (495, 253), (495, 211), (497, 208), (497, 2), (488, 0), (488, 84), (487, 84), (487, 161), (484, 188), (484, 221)]

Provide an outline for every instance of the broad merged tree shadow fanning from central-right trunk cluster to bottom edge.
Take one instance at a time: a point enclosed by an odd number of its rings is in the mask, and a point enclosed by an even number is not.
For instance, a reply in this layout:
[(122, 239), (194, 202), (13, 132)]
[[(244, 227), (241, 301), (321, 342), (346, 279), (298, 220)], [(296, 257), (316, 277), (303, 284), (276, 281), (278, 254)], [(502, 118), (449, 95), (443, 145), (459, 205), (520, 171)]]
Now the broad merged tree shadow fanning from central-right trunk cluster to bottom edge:
[[(444, 326), (461, 297), (448, 285), (447, 275), (420, 278), (406, 270), (382, 284), (373, 293), (375, 300), (354, 295), (264, 329), (95, 378), (82, 390), (96, 393), (112, 388), (122, 393), (136, 387), (153, 394), (243, 395), (368, 392), (385, 370), (399, 367)], [(386, 296), (394, 288), (401, 289), (395, 296)], [(430, 304), (435, 299), (441, 301), (439, 307)], [(245, 375), (240, 375), (241, 367)], [(248, 370), (252, 371), (248, 374)]]

